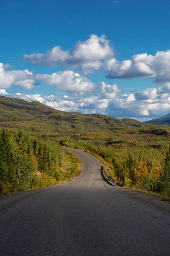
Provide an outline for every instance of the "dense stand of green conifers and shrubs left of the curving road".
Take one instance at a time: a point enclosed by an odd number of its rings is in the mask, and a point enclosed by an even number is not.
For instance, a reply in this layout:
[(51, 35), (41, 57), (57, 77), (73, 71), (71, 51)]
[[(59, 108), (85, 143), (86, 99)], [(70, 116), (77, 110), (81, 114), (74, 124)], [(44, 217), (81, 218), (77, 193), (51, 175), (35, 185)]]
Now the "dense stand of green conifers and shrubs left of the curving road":
[(79, 173), (79, 159), (57, 143), (0, 131), (0, 194), (55, 185)]

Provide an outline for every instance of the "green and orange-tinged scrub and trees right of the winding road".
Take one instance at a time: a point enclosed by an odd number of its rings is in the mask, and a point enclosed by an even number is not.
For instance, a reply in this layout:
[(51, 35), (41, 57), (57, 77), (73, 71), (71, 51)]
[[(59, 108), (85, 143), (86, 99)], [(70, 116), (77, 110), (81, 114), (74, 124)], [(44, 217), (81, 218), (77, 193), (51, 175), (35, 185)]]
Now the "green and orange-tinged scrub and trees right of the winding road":
[(94, 154), (109, 167), (108, 175), (119, 182), (125, 178), (125, 186), (170, 198), (169, 127), (120, 127), (62, 135), (57, 141)]

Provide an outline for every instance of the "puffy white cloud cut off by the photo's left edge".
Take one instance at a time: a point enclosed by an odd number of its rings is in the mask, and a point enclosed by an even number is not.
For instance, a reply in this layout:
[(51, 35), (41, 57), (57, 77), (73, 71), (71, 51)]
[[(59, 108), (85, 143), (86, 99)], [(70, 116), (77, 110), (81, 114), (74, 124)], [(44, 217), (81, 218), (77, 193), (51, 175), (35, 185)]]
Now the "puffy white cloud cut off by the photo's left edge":
[(12, 85), (31, 90), (34, 87), (33, 73), (26, 70), (6, 71), (0, 63), (0, 88), (9, 88)]

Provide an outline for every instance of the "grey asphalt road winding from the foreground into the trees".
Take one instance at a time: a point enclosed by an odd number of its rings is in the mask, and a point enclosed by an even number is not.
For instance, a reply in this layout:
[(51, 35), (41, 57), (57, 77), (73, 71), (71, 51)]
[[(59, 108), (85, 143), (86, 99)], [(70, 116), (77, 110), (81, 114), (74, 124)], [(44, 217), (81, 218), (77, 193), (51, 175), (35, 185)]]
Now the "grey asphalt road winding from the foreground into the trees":
[(170, 203), (110, 186), (83, 161), (68, 183), (0, 197), (0, 256), (169, 256)]

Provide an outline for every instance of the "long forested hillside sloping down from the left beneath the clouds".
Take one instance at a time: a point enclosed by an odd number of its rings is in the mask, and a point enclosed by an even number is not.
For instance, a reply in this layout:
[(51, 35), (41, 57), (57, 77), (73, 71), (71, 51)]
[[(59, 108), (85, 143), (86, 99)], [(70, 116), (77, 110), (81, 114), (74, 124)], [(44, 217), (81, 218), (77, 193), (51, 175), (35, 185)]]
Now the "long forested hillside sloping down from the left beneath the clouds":
[(74, 131), (106, 130), (117, 127), (142, 127), (134, 119), (117, 119), (100, 114), (64, 112), (23, 99), (0, 96), (0, 127), (33, 132), (73, 133)]

